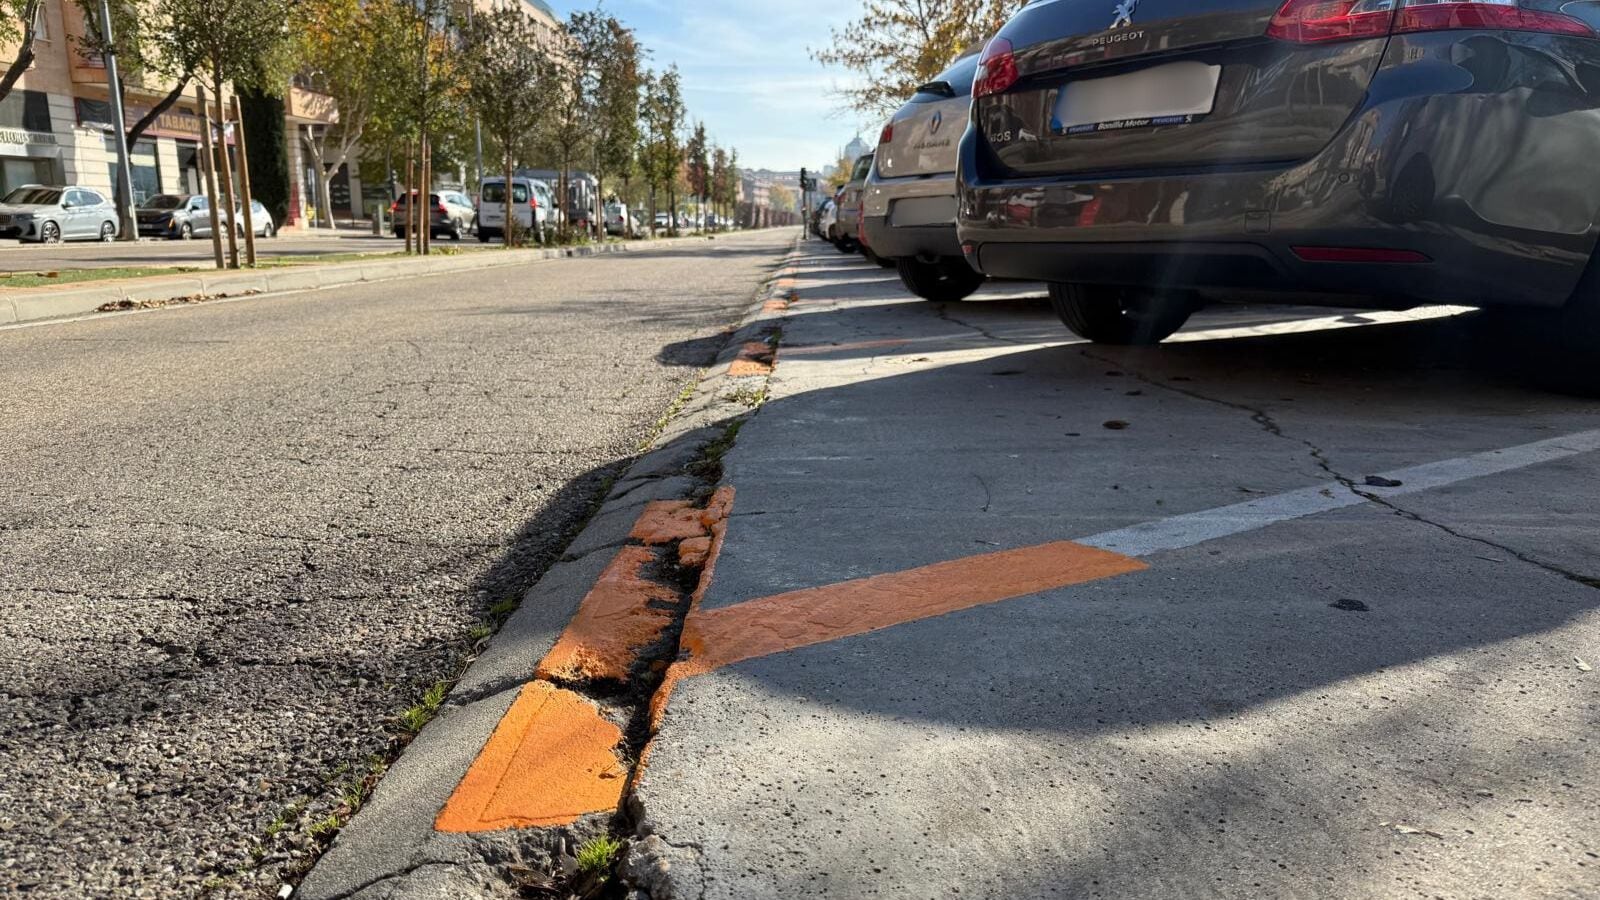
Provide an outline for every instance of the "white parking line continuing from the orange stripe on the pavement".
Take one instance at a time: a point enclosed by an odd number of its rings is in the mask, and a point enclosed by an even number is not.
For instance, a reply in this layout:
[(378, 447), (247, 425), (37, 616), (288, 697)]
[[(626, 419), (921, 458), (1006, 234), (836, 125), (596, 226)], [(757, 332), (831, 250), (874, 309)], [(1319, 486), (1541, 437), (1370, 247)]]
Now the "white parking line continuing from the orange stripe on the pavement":
[[(1384, 472), (1381, 477), (1402, 482), (1400, 487), (1362, 487), (1363, 492), (1379, 496), (1405, 496), (1440, 487), (1459, 484), (1470, 479), (1482, 479), (1501, 472), (1526, 469), (1541, 463), (1554, 463), (1582, 453), (1600, 450), (1600, 429), (1579, 431), (1565, 437), (1552, 437), (1536, 444), (1523, 444), (1506, 450), (1490, 450), (1458, 460), (1426, 463), (1410, 469)], [(1168, 549), (1184, 549), (1205, 541), (1254, 532), (1293, 519), (1306, 519), (1320, 512), (1347, 509), (1368, 503), (1339, 482), (1328, 482), (1318, 487), (1307, 487), (1264, 496), (1234, 506), (1173, 516), (1157, 522), (1133, 525), (1104, 532), (1091, 538), (1074, 543), (1109, 549), (1123, 556), (1150, 556)]]

